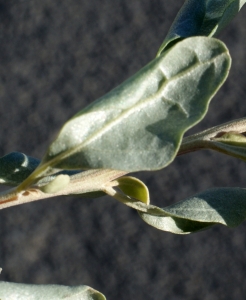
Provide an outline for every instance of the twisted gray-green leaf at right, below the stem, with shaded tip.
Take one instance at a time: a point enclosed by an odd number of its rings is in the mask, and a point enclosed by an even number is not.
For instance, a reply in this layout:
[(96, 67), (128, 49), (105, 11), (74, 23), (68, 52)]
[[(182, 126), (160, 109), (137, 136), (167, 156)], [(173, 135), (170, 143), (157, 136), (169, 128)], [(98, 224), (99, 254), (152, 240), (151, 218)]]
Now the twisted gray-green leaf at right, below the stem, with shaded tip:
[(246, 189), (210, 189), (162, 211), (163, 215), (149, 212), (139, 215), (149, 225), (176, 234), (204, 230), (215, 224), (236, 227), (246, 219)]

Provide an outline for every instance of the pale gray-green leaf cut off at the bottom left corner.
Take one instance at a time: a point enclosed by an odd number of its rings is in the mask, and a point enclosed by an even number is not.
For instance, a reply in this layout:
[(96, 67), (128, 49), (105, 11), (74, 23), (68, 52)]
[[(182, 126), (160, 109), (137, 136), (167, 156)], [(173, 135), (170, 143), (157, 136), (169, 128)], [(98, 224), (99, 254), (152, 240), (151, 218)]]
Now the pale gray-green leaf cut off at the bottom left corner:
[(98, 291), (88, 286), (34, 285), (0, 282), (1, 300), (106, 300)]

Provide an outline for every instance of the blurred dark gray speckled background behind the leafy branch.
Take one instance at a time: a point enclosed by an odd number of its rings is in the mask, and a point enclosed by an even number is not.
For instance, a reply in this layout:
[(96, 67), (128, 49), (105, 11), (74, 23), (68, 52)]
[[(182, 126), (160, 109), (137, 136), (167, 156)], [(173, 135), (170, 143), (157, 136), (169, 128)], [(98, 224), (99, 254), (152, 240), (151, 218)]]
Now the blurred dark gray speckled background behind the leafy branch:
[[(183, 1), (0, 1), (0, 156), (41, 158), (62, 124), (154, 58)], [(192, 132), (245, 116), (246, 10), (221, 34), (233, 65)], [(201, 151), (138, 173), (164, 207), (246, 185), (245, 163)], [(246, 225), (177, 236), (110, 198), (0, 211), (0, 280), (90, 285), (109, 300), (245, 299)]]

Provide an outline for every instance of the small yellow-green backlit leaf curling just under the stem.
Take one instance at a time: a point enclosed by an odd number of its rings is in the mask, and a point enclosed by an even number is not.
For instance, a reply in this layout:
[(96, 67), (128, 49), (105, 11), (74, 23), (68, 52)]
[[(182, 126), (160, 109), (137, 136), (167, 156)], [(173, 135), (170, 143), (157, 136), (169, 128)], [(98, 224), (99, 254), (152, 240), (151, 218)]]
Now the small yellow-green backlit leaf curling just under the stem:
[(141, 180), (135, 177), (124, 176), (118, 178), (116, 181), (124, 194), (138, 199), (147, 205), (149, 204), (149, 190)]

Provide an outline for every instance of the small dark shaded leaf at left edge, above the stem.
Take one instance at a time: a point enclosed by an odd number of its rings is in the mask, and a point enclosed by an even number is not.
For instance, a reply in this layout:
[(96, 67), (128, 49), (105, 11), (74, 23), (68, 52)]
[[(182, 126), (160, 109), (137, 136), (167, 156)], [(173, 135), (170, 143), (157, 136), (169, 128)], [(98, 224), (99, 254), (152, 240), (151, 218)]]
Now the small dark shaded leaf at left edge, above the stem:
[(18, 185), (39, 165), (40, 160), (20, 152), (11, 152), (0, 158), (0, 184)]

